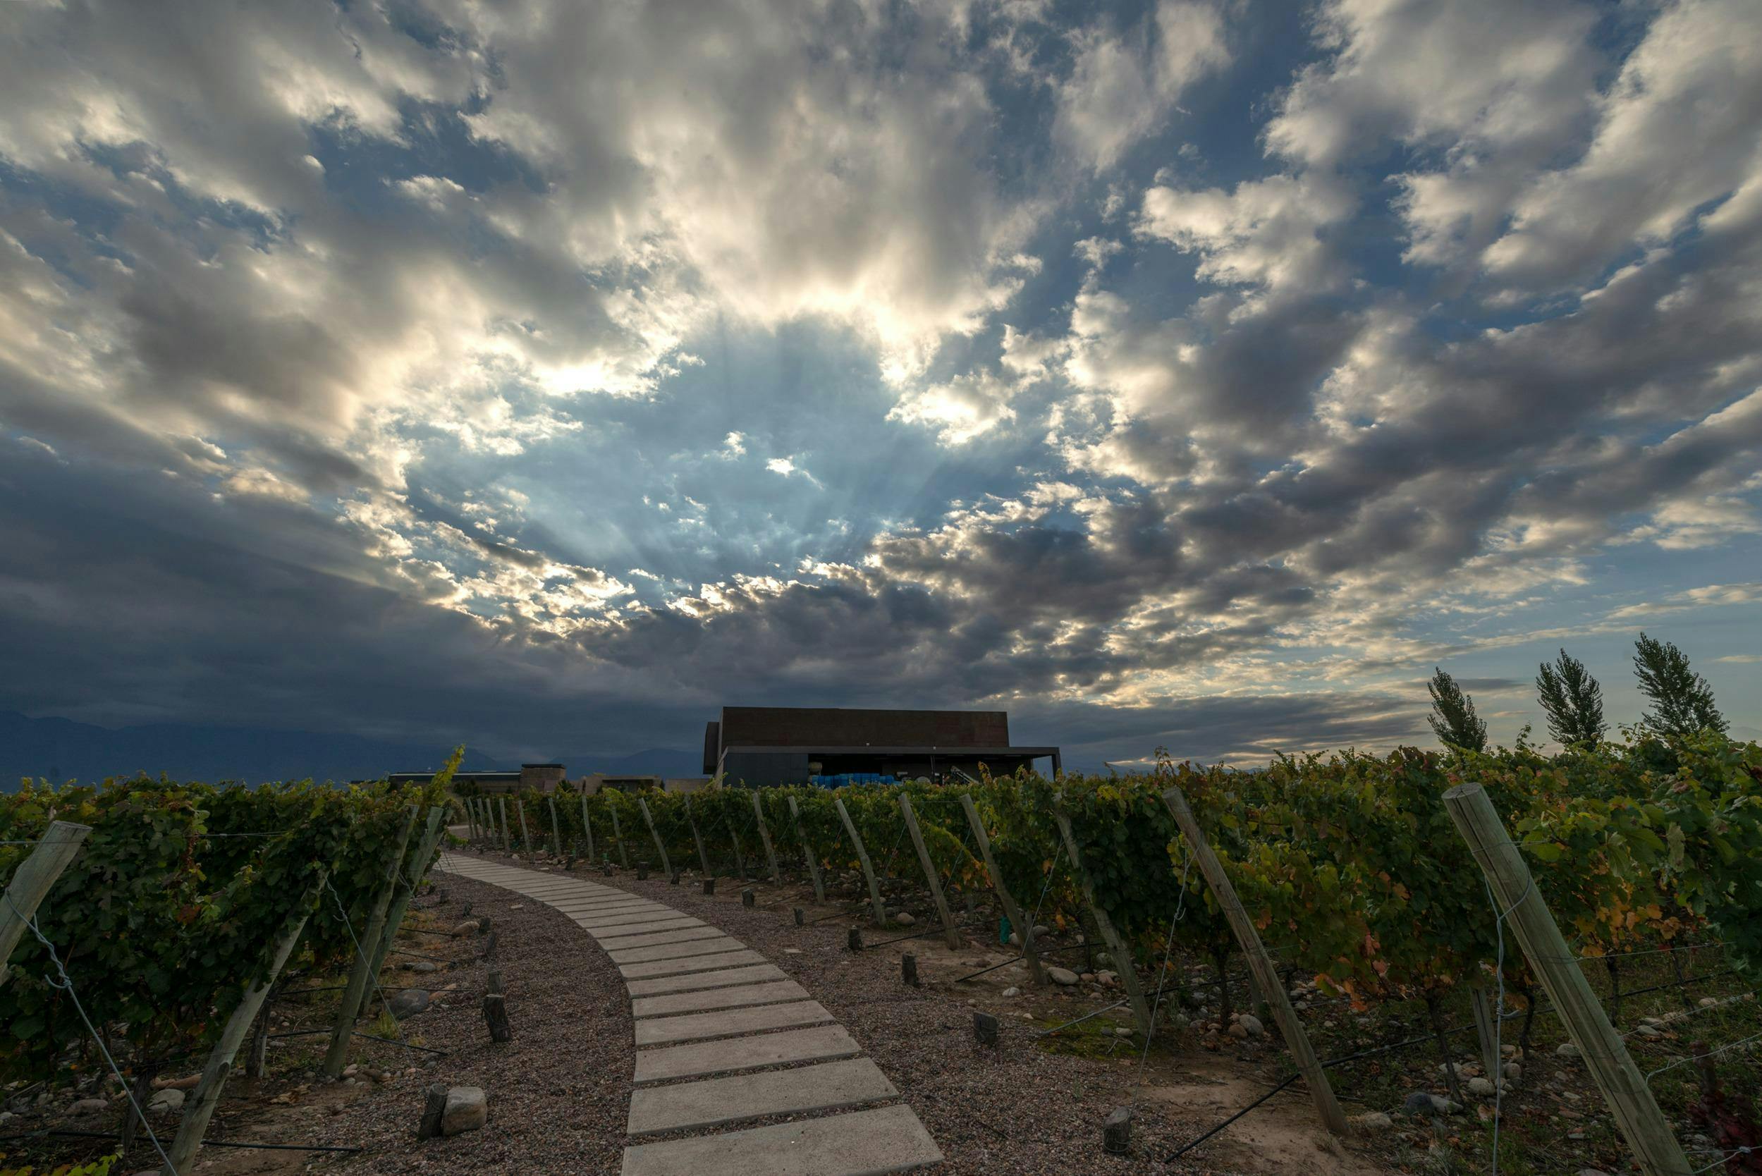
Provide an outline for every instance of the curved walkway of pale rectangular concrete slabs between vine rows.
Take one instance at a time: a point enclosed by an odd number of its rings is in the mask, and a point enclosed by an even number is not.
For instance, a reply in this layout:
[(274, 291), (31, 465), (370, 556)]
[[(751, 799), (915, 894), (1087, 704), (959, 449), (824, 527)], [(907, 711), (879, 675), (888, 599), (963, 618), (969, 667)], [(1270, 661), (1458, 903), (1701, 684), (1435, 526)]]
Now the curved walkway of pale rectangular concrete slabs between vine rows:
[[(943, 1158), (899, 1090), (807, 989), (666, 903), (585, 878), (442, 853), (440, 869), (569, 915), (618, 964), (636, 1024), (624, 1176), (867, 1176)], [(779, 1114), (842, 1111), (722, 1130)], [(680, 1135), (682, 1132), (708, 1132)]]

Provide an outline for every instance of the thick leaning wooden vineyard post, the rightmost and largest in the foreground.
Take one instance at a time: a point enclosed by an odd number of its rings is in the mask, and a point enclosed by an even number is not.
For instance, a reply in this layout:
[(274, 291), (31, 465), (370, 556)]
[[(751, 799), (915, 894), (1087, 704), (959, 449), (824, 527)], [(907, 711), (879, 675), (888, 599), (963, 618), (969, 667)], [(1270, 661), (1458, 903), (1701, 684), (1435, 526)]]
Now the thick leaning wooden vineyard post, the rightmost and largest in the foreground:
[[(1443, 793), (1443, 806), (1457, 832), (1468, 841), (1475, 862), (1487, 875), (1494, 901), (1505, 912), (1505, 922), (1517, 934), (1529, 966), (1554, 1000), (1554, 1010), (1584, 1056), (1598, 1090), (1603, 1091), (1603, 1100), (1609, 1102), (1616, 1127), (1640, 1162), (1640, 1171), (1647, 1176), (1688, 1176), (1690, 1165), (1683, 1144), (1670, 1134), (1670, 1123), (1658, 1109), (1646, 1077), (1609, 1024), (1591, 982), (1584, 979), (1554, 915), (1536, 892), (1529, 867), (1505, 832), (1492, 800), (1480, 785), (1470, 783)], [(1498, 1081), (1498, 1072), (1489, 1077)]]

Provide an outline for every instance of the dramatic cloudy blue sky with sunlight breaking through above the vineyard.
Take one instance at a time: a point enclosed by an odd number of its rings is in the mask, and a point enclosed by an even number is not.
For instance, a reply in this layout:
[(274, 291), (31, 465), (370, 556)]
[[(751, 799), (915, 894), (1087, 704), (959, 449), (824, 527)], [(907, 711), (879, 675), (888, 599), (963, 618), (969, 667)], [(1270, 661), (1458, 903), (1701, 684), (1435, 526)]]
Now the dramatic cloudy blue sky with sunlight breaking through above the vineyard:
[(1762, 737), (1753, 0), (0, 5), (0, 711)]

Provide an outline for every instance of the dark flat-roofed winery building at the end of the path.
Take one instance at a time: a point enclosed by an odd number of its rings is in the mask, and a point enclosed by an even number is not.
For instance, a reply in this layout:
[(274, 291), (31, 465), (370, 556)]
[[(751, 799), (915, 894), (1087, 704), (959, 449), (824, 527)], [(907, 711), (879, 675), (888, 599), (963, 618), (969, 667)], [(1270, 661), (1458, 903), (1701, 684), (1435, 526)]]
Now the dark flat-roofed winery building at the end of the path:
[(1057, 748), (1010, 742), (1006, 711), (722, 707), (703, 732), (703, 770), (731, 783), (803, 785), (916, 779), (953, 783), (1018, 767), (1057, 774)]

